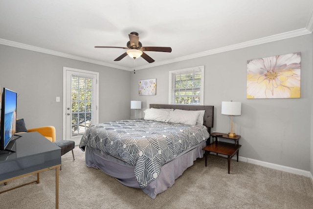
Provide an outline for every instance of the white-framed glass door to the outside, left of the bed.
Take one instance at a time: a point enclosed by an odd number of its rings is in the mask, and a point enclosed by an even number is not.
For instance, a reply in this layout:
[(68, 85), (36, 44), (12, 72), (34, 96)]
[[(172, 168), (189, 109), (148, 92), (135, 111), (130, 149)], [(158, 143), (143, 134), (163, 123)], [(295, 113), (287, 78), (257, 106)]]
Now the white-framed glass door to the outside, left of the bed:
[(78, 145), (90, 125), (98, 123), (98, 72), (64, 68), (66, 93), (64, 101), (65, 138)]

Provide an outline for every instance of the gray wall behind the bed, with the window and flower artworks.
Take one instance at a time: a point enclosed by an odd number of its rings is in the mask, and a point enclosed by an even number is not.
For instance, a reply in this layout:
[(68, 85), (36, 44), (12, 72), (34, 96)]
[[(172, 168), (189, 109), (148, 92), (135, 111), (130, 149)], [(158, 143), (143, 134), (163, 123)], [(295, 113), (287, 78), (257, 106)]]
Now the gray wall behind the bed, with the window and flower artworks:
[[(222, 101), (240, 101), (242, 115), (234, 117), (235, 133), (242, 136), (240, 156), (310, 171), (312, 43), (310, 34), (137, 70), (131, 75), (131, 99), (142, 101), (138, 115), (144, 116), (149, 104), (168, 103), (169, 70), (204, 65), (204, 104), (215, 106), (212, 132), (229, 131)], [(293, 52), (301, 52), (301, 98), (246, 99), (247, 60)], [(138, 81), (150, 78), (156, 78), (156, 95), (139, 96)]]

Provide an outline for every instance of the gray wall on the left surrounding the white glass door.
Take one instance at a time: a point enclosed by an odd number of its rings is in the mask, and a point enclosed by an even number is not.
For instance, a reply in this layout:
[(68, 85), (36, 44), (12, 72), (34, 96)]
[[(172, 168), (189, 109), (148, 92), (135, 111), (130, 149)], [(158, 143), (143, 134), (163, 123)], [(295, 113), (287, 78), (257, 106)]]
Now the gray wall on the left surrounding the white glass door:
[(52, 125), (62, 139), (63, 67), (99, 72), (99, 122), (130, 118), (131, 72), (0, 45), (0, 87), (18, 93), (27, 128)]

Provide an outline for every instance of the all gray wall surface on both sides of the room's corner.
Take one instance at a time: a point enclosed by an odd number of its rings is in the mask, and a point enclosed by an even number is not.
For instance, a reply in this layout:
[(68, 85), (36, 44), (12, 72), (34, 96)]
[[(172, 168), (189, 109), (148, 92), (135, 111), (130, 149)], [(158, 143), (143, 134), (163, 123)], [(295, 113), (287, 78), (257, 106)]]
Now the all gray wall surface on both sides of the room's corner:
[[(221, 115), (221, 102), (241, 101), (242, 115), (234, 120), (235, 132), (242, 136), (240, 156), (313, 173), (312, 50), (310, 34), (137, 70), (134, 74), (0, 45), (0, 86), (19, 93), (18, 117), (26, 120), (27, 128), (53, 125), (61, 139), (63, 67), (99, 72), (99, 122), (106, 122), (133, 118), (130, 100), (143, 102), (138, 117), (151, 103), (168, 103), (168, 71), (204, 65), (204, 104), (215, 106), (213, 132), (229, 130), (229, 118)], [(246, 99), (246, 61), (292, 52), (301, 52), (301, 98)], [(156, 95), (139, 96), (138, 80), (149, 78), (156, 78)], [(61, 102), (55, 101), (56, 96)]]

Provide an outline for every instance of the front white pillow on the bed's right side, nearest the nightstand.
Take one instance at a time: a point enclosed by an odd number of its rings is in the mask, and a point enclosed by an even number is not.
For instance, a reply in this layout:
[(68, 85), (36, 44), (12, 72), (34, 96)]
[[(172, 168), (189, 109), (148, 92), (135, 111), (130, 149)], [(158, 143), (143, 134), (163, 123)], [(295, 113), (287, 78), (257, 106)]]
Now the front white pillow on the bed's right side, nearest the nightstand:
[(181, 112), (174, 110), (169, 113), (170, 116), (166, 122), (180, 123), (186, 125), (196, 125), (200, 112), (186, 111)]

